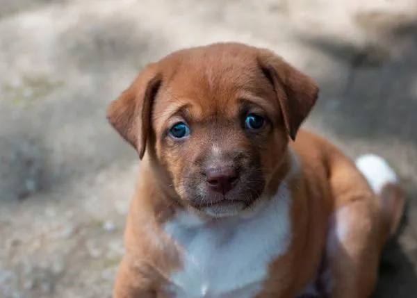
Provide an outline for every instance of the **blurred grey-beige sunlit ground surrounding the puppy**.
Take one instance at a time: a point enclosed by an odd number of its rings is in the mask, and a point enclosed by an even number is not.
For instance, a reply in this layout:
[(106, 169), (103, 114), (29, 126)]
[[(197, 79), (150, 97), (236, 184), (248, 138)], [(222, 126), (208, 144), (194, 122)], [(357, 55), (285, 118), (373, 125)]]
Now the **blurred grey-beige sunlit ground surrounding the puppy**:
[(181, 47), (268, 47), (321, 87), (305, 127), (398, 171), (375, 297), (417, 297), (416, 0), (0, 0), (0, 297), (111, 297), (138, 158), (106, 122)]

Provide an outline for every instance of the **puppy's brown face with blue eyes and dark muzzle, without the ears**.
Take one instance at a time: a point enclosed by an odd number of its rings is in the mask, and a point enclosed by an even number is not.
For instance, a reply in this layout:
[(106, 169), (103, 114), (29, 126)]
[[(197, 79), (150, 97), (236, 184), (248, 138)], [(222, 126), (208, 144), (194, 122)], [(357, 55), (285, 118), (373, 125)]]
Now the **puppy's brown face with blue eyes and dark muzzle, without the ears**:
[(184, 204), (235, 214), (263, 193), (286, 145), (284, 122), (261, 69), (231, 58), (197, 65), (183, 65), (189, 72), (158, 94), (156, 155)]

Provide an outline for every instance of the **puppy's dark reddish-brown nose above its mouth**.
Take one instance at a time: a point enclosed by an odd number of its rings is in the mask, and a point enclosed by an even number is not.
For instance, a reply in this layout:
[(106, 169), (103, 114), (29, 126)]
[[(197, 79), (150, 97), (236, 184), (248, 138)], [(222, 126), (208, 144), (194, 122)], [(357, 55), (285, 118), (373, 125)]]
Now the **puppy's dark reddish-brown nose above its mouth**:
[(238, 172), (233, 167), (214, 167), (206, 170), (206, 183), (213, 192), (226, 194), (236, 184)]

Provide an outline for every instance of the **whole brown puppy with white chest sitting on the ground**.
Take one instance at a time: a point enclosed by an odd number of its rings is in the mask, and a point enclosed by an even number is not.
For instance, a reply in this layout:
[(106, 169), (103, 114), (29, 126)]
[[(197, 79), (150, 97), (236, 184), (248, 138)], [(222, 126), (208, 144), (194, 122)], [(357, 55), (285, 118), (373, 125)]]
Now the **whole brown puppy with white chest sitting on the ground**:
[(115, 298), (366, 298), (404, 194), (300, 129), (318, 87), (245, 44), (182, 49), (108, 107), (142, 160)]

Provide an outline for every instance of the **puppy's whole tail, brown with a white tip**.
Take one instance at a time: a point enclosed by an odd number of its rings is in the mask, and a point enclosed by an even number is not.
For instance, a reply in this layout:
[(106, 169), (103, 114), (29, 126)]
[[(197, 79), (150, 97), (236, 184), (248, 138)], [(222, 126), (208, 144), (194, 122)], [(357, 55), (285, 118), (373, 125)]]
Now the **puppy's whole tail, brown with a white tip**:
[(360, 156), (356, 165), (381, 199), (382, 233), (384, 240), (387, 240), (398, 231), (406, 204), (398, 176), (384, 158), (373, 154)]

